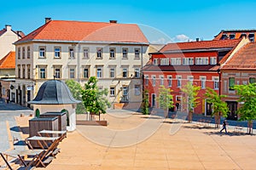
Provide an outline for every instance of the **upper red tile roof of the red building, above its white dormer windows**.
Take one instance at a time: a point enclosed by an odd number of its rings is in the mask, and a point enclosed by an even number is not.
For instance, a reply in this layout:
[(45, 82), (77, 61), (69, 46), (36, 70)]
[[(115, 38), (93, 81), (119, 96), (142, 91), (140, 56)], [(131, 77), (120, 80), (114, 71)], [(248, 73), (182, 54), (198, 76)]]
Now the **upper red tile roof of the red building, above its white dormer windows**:
[(234, 48), (239, 42), (241, 42), (241, 39), (168, 43), (164, 48), (160, 49), (160, 52), (189, 49)]

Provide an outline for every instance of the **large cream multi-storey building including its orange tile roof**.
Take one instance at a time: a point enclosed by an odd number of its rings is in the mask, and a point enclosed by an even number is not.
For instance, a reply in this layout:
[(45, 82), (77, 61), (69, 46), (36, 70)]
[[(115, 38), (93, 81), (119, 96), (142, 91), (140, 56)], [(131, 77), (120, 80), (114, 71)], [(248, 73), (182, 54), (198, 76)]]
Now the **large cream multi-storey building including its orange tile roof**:
[[(141, 70), (149, 59), (148, 41), (138, 26), (116, 22), (102, 23), (102, 27), (108, 29), (107, 32), (101, 33), (108, 33), (110, 36), (99, 36), (98, 30), (94, 30), (90, 36), (94, 35), (89, 38), (85, 35), (82, 39), (76, 39), (75, 36), (72, 39), (73, 35), (70, 35), (55, 39), (55, 34), (49, 33), (48, 37), (42, 39), (40, 33), (43, 34), (44, 30), (59, 26), (62, 22), (67, 24), (68, 28), (76, 24), (75, 21), (48, 20), (42, 30), (40, 27), (15, 42), (15, 102), (30, 106), (27, 101), (32, 100), (42, 83), (50, 79), (73, 79), (84, 85), (89, 77), (96, 77), (99, 80), (99, 88), (108, 88), (108, 100), (113, 107), (126, 105), (129, 108), (138, 108), (142, 101), (143, 89)], [(79, 22), (79, 26), (83, 24), (90, 26), (88, 22)], [(101, 23), (91, 23), (91, 26), (95, 24)], [(117, 31), (116, 28), (124, 31)], [(67, 30), (65, 27), (61, 29)], [(135, 35), (134, 31), (137, 31)], [(131, 34), (131, 37), (124, 39), (124, 32), (125, 36)], [(82, 34), (83, 29), (77, 33)], [(98, 41), (97, 37), (100, 37)]]

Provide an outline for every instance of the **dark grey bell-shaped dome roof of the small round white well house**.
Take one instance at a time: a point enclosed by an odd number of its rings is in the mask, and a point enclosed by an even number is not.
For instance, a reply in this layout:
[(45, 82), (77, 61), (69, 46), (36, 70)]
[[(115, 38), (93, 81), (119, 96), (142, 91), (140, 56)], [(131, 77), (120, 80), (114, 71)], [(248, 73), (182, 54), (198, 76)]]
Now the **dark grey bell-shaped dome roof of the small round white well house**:
[(73, 98), (65, 82), (49, 80), (44, 82), (39, 88), (36, 98), (28, 103), (36, 105), (62, 105), (77, 104), (81, 103), (81, 101)]

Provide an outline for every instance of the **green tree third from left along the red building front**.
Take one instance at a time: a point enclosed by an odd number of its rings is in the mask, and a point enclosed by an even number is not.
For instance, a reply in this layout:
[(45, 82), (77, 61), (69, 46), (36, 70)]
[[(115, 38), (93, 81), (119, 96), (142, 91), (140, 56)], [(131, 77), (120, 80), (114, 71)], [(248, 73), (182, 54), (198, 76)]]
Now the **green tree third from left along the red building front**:
[(181, 90), (185, 94), (185, 97), (183, 98), (184, 108), (187, 108), (189, 111), (188, 121), (192, 122), (194, 108), (199, 104), (199, 97), (197, 97), (197, 95), (200, 87), (193, 85), (192, 82), (187, 82)]

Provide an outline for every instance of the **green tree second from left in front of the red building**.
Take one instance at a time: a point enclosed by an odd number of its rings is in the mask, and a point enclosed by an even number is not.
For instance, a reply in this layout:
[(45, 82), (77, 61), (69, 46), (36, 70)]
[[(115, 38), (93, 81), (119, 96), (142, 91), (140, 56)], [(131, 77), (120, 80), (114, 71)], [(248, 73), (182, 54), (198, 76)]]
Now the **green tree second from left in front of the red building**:
[(169, 108), (173, 107), (173, 100), (172, 100), (172, 89), (166, 88), (165, 86), (160, 86), (159, 88), (159, 97), (156, 100), (159, 102), (160, 108), (163, 109), (165, 112), (165, 117), (168, 116)]

